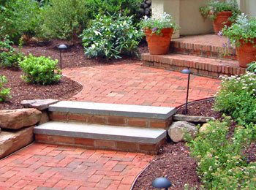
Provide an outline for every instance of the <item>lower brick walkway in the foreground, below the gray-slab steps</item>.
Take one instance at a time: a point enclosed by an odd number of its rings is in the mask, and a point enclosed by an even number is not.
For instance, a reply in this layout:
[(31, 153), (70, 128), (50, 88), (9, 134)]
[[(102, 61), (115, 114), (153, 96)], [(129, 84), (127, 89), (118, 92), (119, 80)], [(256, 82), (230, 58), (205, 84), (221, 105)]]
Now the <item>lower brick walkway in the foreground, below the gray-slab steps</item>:
[(0, 161), (0, 189), (128, 190), (152, 158), (35, 143)]

